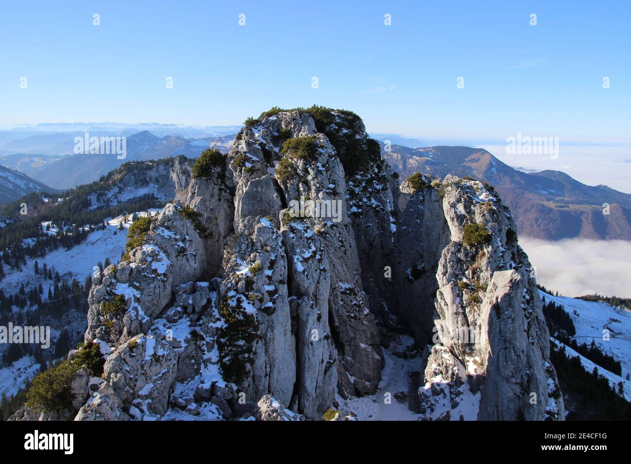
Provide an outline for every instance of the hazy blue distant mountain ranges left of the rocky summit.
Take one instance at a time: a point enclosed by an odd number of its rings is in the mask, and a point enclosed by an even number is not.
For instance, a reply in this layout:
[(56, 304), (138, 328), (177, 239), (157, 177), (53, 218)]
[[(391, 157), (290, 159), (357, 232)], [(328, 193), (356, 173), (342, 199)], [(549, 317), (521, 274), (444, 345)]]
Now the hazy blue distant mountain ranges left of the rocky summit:
[[(42, 188), (56, 191), (95, 181), (127, 161), (177, 155), (198, 157), (204, 148), (209, 147), (227, 152), (240, 128), (240, 125), (184, 126), (157, 122), (59, 122), (0, 126), (0, 165), (23, 173), (17, 177), (13, 175), (16, 182), (3, 183), (0, 203), (13, 201)], [(75, 155), (74, 139), (86, 133), (91, 137), (126, 137), (126, 157), (119, 160), (115, 155)], [(21, 182), (17, 181), (18, 178)]]

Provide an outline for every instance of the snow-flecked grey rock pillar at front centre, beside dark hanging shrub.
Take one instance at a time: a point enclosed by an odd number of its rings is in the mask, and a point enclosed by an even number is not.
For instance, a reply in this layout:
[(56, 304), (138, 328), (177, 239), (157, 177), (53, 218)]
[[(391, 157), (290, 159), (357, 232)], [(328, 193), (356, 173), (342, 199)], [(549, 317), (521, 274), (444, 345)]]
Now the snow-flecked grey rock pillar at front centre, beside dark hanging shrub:
[[(280, 231), (268, 220), (247, 217), (240, 232), (219, 292), (221, 315), (237, 319), (220, 332), (225, 347), (220, 357), (247, 400), (274, 392), (288, 404), (295, 383), (296, 345), (287, 287), (281, 283), (286, 282), (287, 267)], [(233, 349), (238, 339), (251, 339), (251, 345)]]

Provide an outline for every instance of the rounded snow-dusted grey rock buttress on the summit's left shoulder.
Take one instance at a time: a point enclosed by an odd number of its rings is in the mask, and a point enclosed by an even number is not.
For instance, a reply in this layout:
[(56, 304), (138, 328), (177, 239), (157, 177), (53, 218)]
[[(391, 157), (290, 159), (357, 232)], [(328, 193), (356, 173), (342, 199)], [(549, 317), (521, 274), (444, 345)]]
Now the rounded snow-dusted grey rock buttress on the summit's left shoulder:
[[(129, 261), (93, 275), (85, 341), (98, 338), (122, 343), (146, 333), (151, 318), (172, 299), (174, 288), (199, 278), (205, 258), (203, 240), (194, 224), (182, 216), (178, 206), (165, 206), (151, 222), (143, 244), (129, 253)], [(121, 306), (113, 304), (117, 299)]]

